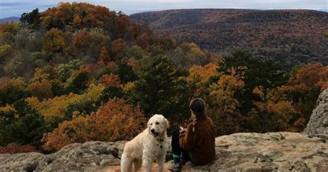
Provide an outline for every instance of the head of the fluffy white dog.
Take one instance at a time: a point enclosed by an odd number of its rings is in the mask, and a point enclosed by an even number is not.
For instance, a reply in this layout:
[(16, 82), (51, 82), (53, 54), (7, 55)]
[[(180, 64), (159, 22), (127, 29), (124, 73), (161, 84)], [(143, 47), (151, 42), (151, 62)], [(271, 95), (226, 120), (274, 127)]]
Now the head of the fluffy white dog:
[(147, 123), (149, 135), (153, 135), (154, 137), (163, 135), (169, 126), (169, 121), (167, 121), (167, 119), (165, 119), (165, 117), (161, 114), (154, 114), (154, 116), (151, 117)]

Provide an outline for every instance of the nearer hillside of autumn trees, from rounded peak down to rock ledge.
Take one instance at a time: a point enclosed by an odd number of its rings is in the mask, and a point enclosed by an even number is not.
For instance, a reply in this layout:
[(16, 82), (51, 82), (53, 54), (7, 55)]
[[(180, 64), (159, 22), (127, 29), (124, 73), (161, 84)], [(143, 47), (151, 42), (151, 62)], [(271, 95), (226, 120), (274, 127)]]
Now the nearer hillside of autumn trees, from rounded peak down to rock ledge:
[(175, 130), (195, 97), (217, 135), (300, 132), (328, 87), (319, 62), (284, 71), (243, 49), (217, 56), (89, 3), (20, 21), (0, 26), (0, 153), (128, 140), (155, 113)]

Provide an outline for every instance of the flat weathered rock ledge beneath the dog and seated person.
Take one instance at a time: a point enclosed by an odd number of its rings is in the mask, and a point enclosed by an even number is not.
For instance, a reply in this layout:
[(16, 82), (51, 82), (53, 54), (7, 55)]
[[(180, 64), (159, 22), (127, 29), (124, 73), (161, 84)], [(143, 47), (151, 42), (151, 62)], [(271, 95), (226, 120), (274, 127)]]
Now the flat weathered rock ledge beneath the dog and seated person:
[[(293, 132), (221, 136), (215, 139), (217, 157), (214, 162), (205, 166), (188, 162), (184, 170), (325, 171), (328, 169), (327, 141), (328, 135), (309, 138)], [(125, 142), (71, 144), (50, 155), (3, 154), (0, 155), (0, 171), (119, 171)], [(167, 157), (171, 157), (171, 151), (169, 148)]]

